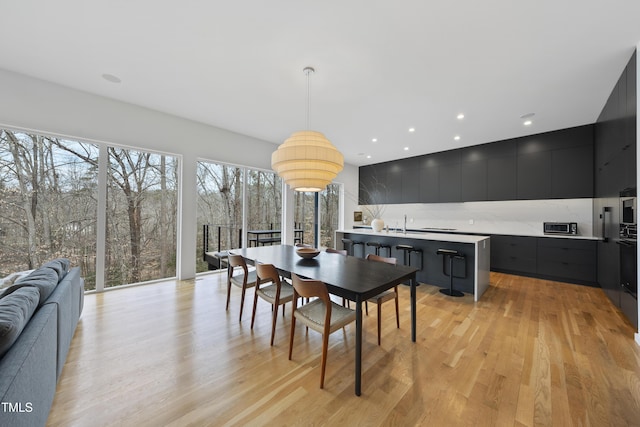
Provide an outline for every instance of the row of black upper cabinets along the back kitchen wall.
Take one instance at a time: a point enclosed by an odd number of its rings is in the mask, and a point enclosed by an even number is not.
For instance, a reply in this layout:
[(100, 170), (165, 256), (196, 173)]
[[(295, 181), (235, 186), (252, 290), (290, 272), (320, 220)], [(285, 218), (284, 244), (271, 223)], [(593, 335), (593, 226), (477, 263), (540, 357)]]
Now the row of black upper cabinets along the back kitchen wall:
[(593, 197), (593, 138), (587, 125), (363, 166), (360, 203)]

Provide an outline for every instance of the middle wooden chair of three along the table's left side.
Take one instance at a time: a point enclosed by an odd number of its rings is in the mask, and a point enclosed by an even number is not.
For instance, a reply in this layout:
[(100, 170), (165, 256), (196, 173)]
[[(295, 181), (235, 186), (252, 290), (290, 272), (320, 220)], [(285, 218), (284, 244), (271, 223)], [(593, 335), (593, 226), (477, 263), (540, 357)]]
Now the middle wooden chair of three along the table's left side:
[(256, 264), (257, 284), (253, 297), (253, 313), (251, 314), (251, 329), (256, 319), (256, 306), (258, 297), (271, 304), (273, 319), (271, 322), (271, 345), (276, 335), (276, 319), (278, 318), (278, 308), (282, 305), (282, 315), (284, 316), (284, 305), (293, 299), (293, 286), (286, 280), (280, 280), (280, 274), (273, 264)]

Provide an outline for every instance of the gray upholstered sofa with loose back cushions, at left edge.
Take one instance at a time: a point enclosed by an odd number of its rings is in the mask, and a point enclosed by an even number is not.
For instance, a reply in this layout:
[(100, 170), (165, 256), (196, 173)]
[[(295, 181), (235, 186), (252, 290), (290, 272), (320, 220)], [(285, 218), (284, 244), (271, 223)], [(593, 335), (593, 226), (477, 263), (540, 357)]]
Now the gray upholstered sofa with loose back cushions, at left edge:
[(83, 304), (84, 279), (67, 259), (0, 291), (0, 426), (46, 424)]

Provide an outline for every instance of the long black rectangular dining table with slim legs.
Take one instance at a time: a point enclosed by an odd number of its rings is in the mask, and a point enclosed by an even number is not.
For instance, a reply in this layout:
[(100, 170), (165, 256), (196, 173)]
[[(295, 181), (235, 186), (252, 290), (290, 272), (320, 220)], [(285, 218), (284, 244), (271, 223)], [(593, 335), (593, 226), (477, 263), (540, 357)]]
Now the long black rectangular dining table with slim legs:
[(416, 341), (416, 272), (415, 267), (367, 261), (321, 251), (315, 258), (305, 259), (292, 245), (259, 246), (232, 249), (248, 264), (273, 264), (284, 277), (291, 274), (326, 284), (330, 294), (355, 302), (355, 394), (362, 390), (362, 303), (394, 286), (409, 282), (411, 289), (411, 341)]

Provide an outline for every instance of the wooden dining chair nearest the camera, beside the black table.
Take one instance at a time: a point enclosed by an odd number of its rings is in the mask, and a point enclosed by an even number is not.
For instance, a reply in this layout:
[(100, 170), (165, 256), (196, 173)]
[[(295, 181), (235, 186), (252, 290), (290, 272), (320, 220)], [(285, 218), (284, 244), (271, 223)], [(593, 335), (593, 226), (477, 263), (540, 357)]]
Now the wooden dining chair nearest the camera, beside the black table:
[[(324, 388), (324, 373), (327, 365), (327, 349), (329, 334), (343, 328), (356, 320), (356, 312), (331, 301), (327, 286), (319, 280), (301, 279), (295, 273), (293, 280), (293, 309), (291, 316), (291, 336), (289, 338), (289, 360), (293, 351), (293, 337), (296, 319), (307, 327), (322, 334), (322, 360), (320, 371), (320, 388)], [(298, 308), (298, 298), (316, 297), (308, 304)]]

